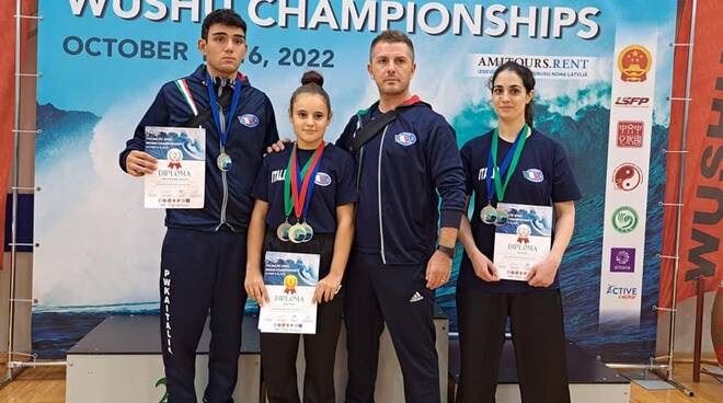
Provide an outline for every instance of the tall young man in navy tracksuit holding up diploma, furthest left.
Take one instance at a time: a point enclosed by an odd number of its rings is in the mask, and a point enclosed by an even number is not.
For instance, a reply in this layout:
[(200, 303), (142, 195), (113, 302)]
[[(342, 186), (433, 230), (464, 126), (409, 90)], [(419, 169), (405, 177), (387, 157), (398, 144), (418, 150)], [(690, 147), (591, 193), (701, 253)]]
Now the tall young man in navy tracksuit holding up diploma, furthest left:
[[(206, 130), (204, 208), (167, 209), (165, 215), (160, 296), (170, 403), (196, 402), (196, 348), (209, 312), (204, 402), (232, 402), (237, 382), (251, 191), (266, 146), (278, 140), (268, 97), (238, 72), (248, 50), (245, 32), (245, 22), (231, 10), (208, 14), (198, 41), (205, 65), (161, 88), (119, 156), (128, 174), (150, 174), (157, 160), (144, 151), (146, 126), (183, 127), (211, 110), (195, 124)], [(238, 102), (223, 106), (219, 100), (229, 91)], [(219, 107), (211, 108), (209, 99)]]

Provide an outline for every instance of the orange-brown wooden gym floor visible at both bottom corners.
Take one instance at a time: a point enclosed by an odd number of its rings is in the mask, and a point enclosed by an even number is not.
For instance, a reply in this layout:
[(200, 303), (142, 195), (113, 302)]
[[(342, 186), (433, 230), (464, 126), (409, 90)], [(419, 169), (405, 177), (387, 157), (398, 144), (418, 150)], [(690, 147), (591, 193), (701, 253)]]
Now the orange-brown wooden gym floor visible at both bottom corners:
[[(696, 395), (686, 398), (678, 390), (646, 391), (636, 384), (631, 387), (631, 403), (721, 403), (723, 383), (701, 375), (700, 383), (691, 382), (691, 365), (676, 366), (675, 378), (692, 390)], [(62, 403), (66, 401), (65, 368), (31, 368), (0, 388), (0, 403)]]

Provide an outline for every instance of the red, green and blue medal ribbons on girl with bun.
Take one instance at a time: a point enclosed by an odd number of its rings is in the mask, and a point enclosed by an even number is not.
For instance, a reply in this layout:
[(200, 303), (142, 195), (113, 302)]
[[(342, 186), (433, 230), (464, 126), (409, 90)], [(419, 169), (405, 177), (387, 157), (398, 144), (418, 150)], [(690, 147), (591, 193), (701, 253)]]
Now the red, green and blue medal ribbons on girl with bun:
[[(295, 145), (294, 150), (291, 150), (291, 156), (289, 157), (289, 162), (286, 166), (286, 175), (284, 177), (284, 210), (286, 217), (289, 217), (291, 215), (291, 208), (294, 208), (296, 218), (299, 220), (309, 211), (311, 194), (313, 192), (313, 179), (317, 176), (317, 172), (321, 165), (320, 162), (321, 156), (324, 152), (324, 143), (322, 141), (319, 145), (319, 148), (314, 150), (313, 154), (300, 172), (296, 150), (297, 148)], [(301, 185), (300, 188), (299, 185)]]

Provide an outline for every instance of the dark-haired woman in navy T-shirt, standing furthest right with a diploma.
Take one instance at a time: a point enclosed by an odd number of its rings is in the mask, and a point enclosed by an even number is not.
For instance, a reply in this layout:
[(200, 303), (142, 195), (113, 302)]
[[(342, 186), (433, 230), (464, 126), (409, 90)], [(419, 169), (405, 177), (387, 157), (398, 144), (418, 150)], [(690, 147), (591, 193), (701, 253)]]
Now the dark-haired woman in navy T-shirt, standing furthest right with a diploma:
[[(459, 231), (464, 246), (457, 280), (461, 349), (457, 402), (460, 403), (494, 402), (507, 318), (523, 402), (570, 402), (558, 267), (574, 229), (574, 200), (581, 195), (562, 146), (531, 129), (533, 89), (535, 79), (529, 69), (515, 62), (501, 66), (491, 80), (492, 103), (500, 126), (473, 138), (461, 149), (468, 204), (472, 194), (475, 202), (472, 217), (462, 218)], [(521, 136), (526, 136), (525, 141), (516, 141)], [(490, 185), (494, 182), (489, 172), (494, 137), (497, 161), (514, 156), (523, 145), (517, 163), (509, 159), (510, 177), (502, 197), (496, 191), (501, 187)], [(502, 165), (495, 171), (502, 184), (506, 179), (506, 173), (501, 172), (505, 171), (505, 163), (495, 164)], [(493, 191), (487, 194), (487, 188)], [(489, 217), (483, 222), (480, 214), (487, 204), (496, 207), (501, 198), (505, 203), (554, 209), (552, 249), (543, 262), (532, 266), (526, 281), (501, 280), (492, 262), (495, 226), (486, 223), (491, 221)]]

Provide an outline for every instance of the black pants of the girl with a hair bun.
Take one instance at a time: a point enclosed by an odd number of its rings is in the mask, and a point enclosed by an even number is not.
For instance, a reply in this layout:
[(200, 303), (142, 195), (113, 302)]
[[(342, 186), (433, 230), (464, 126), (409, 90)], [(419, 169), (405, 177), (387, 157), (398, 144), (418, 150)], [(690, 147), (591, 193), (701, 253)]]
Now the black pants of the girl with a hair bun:
[[(283, 242), (276, 231), (264, 238), (265, 251), (315, 253), (321, 255), (319, 279), (329, 274), (334, 250), (333, 234), (314, 234), (305, 243)], [(263, 256), (262, 256), (263, 258)], [(305, 403), (334, 403), (334, 361), (336, 342), (342, 325), (344, 289), (330, 302), (317, 307), (317, 333), (303, 335), (306, 371), (303, 376)], [(262, 333), (261, 367), (269, 403), (299, 403), (296, 358), (299, 334)]]

